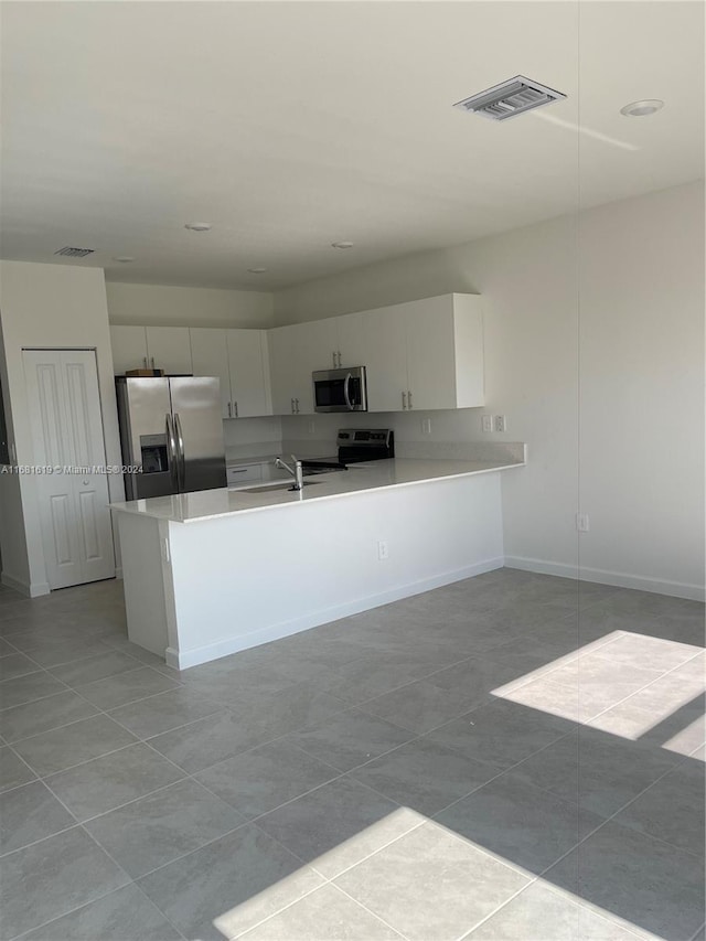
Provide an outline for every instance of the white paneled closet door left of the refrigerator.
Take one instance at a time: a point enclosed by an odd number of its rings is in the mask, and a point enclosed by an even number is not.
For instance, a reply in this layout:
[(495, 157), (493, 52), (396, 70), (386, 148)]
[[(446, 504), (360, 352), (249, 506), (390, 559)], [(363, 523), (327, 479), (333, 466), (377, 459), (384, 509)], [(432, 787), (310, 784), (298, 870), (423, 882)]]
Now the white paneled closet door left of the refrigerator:
[(95, 354), (25, 350), (24, 372), (41, 467), (87, 472), (35, 477), (47, 580), (65, 588), (115, 576), (108, 481)]

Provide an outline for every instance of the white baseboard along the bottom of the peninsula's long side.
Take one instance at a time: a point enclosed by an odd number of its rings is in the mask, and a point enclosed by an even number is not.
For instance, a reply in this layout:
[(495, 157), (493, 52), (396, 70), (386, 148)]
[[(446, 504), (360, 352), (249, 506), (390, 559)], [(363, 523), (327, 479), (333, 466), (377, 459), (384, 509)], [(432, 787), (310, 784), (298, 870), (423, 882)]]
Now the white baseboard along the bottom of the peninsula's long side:
[(351, 614), (368, 611), (371, 608), (379, 608), (381, 605), (389, 605), (392, 601), (399, 601), (402, 598), (420, 595), (422, 591), (430, 591), (432, 588), (441, 588), (441, 586), (451, 585), (453, 581), (462, 581), (464, 578), (472, 578), (474, 575), (493, 571), (496, 568), (502, 568), (503, 564), (504, 559), (502, 557), (484, 559), (483, 562), (475, 563), (475, 565), (466, 566), (453, 571), (445, 571), (442, 575), (435, 575), (431, 578), (425, 578), (420, 581), (381, 591), (377, 595), (356, 598), (354, 601), (349, 601), (345, 605), (336, 605), (335, 608), (313, 611), (301, 618), (268, 625), (267, 628), (238, 638), (228, 638), (218, 643), (185, 651), (167, 648), (164, 659), (167, 665), (172, 666), (174, 670), (186, 670), (190, 666), (199, 666), (201, 663), (208, 663), (211, 660), (217, 660), (231, 653), (238, 653), (242, 650), (259, 646), (269, 641), (280, 640), (290, 634), (297, 634), (300, 631), (308, 631), (310, 628), (319, 627), (319, 624), (328, 624), (331, 621), (338, 621), (340, 618), (349, 618)]

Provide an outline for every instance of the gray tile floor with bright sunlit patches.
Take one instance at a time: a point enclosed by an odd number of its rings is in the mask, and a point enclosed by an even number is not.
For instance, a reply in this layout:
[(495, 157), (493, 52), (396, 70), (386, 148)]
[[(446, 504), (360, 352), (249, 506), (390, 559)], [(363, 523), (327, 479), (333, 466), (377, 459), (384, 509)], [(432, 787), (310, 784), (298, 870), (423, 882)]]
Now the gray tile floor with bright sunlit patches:
[(703, 648), (502, 569), (178, 673), (0, 590), (1, 937), (703, 939)]

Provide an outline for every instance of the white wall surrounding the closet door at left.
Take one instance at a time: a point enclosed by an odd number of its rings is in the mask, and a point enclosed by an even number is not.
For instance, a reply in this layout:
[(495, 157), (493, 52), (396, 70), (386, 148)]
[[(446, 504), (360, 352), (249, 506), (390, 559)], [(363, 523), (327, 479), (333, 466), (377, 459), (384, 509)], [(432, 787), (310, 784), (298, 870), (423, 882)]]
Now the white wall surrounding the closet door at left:
[[(108, 310), (100, 268), (39, 265), (26, 261), (0, 261), (0, 319), (9, 393), (11, 441), (19, 464), (32, 464), (32, 434), (22, 347), (54, 346), (96, 349), (98, 386), (103, 411), (106, 459), (120, 464), (118, 415), (113, 377), (113, 355), (108, 330)], [(4, 488), (3, 520), (11, 524), (0, 533), (3, 571), (22, 577), (22, 587), (33, 595), (49, 590), (40, 530), (34, 478), (20, 477), (19, 488)], [(122, 478), (108, 477), (110, 500), (125, 499)], [(21, 506), (18, 505), (21, 500)], [(9, 515), (8, 515), (9, 514)], [(24, 542), (17, 533), (23, 518)]]

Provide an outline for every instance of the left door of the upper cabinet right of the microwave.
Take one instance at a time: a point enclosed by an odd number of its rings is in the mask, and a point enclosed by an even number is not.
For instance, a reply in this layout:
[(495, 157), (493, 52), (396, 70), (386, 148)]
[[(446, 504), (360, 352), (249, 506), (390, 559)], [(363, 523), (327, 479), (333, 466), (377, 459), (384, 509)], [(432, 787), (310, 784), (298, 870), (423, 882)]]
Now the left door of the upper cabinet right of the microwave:
[(367, 336), (367, 410), (402, 411), (407, 395), (406, 304), (371, 310), (362, 314)]

